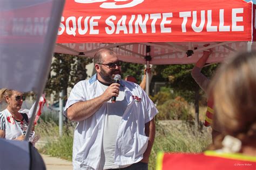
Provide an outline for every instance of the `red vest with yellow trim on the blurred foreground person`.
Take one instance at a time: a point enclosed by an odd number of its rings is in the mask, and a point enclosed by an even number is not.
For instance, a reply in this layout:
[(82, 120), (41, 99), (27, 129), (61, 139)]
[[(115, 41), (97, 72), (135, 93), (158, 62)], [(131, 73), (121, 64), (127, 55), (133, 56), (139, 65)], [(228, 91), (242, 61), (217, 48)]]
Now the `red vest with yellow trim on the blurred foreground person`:
[(256, 157), (240, 153), (158, 153), (156, 170), (255, 170)]

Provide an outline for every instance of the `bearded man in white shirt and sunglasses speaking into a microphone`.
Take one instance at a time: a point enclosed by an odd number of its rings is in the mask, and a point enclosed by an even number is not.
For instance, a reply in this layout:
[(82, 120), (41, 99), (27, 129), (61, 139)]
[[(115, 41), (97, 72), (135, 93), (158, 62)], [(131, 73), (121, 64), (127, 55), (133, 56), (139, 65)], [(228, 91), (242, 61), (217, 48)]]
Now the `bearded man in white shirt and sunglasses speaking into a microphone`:
[(139, 85), (113, 83), (122, 61), (112, 50), (96, 52), (94, 64), (97, 73), (73, 87), (64, 110), (78, 121), (73, 169), (147, 169), (157, 108)]

